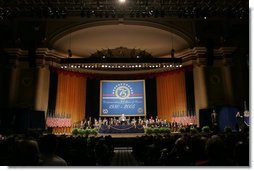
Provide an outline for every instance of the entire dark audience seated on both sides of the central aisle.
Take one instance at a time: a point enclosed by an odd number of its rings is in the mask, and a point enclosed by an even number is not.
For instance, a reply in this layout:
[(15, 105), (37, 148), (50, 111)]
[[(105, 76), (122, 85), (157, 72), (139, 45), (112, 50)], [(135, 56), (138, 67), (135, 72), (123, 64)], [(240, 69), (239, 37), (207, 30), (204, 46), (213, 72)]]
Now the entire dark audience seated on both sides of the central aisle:
[[(111, 136), (2, 135), (0, 162), (7, 166), (109, 166)], [(125, 139), (144, 166), (249, 166), (249, 132), (182, 132)], [(131, 141), (131, 143), (127, 143)]]

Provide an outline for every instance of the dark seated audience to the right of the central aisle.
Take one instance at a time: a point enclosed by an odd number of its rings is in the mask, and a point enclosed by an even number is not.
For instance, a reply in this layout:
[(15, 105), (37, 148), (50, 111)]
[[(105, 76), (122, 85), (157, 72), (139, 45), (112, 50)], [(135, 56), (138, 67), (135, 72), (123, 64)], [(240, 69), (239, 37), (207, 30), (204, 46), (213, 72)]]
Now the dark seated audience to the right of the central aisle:
[[(145, 166), (249, 166), (248, 133), (227, 134), (144, 135), (137, 139), (133, 153)], [(151, 142), (152, 148), (147, 148)], [(153, 149), (160, 151), (159, 157)], [(149, 162), (151, 158), (153, 162)]]

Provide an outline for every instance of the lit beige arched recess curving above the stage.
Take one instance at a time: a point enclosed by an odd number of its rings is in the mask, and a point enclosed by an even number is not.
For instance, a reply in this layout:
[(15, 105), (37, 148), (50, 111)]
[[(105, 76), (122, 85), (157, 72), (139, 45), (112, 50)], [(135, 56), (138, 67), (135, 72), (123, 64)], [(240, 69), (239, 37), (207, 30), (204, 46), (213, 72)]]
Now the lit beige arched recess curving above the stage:
[(154, 57), (161, 57), (169, 56), (172, 48), (181, 51), (190, 45), (184, 37), (168, 30), (128, 22), (112, 25), (98, 23), (97, 26), (67, 33), (53, 42), (53, 49), (62, 53), (71, 49), (75, 57), (90, 57), (98, 50), (118, 47), (145, 50)]

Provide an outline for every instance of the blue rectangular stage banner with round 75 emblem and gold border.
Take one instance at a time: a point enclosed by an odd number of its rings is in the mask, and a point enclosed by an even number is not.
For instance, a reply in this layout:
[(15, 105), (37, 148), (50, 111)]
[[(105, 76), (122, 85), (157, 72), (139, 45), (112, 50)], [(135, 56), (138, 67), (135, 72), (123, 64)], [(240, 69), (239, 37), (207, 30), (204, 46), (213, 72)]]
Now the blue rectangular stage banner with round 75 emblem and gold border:
[(145, 81), (102, 80), (100, 83), (100, 116), (145, 116)]

